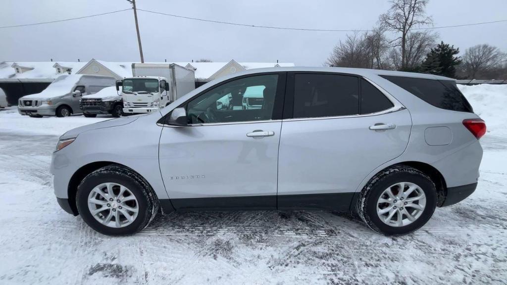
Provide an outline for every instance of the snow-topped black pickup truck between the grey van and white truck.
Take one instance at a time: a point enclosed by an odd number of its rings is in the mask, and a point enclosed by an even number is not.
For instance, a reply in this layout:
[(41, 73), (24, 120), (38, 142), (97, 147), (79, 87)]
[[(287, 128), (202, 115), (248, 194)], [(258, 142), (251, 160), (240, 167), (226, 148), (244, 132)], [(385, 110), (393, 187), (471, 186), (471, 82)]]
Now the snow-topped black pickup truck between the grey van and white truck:
[(123, 114), (122, 96), (115, 86), (106, 87), (95, 94), (81, 97), (79, 108), (85, 117), (97, 117), (97, 114), (111, 114), (118, 118)]

